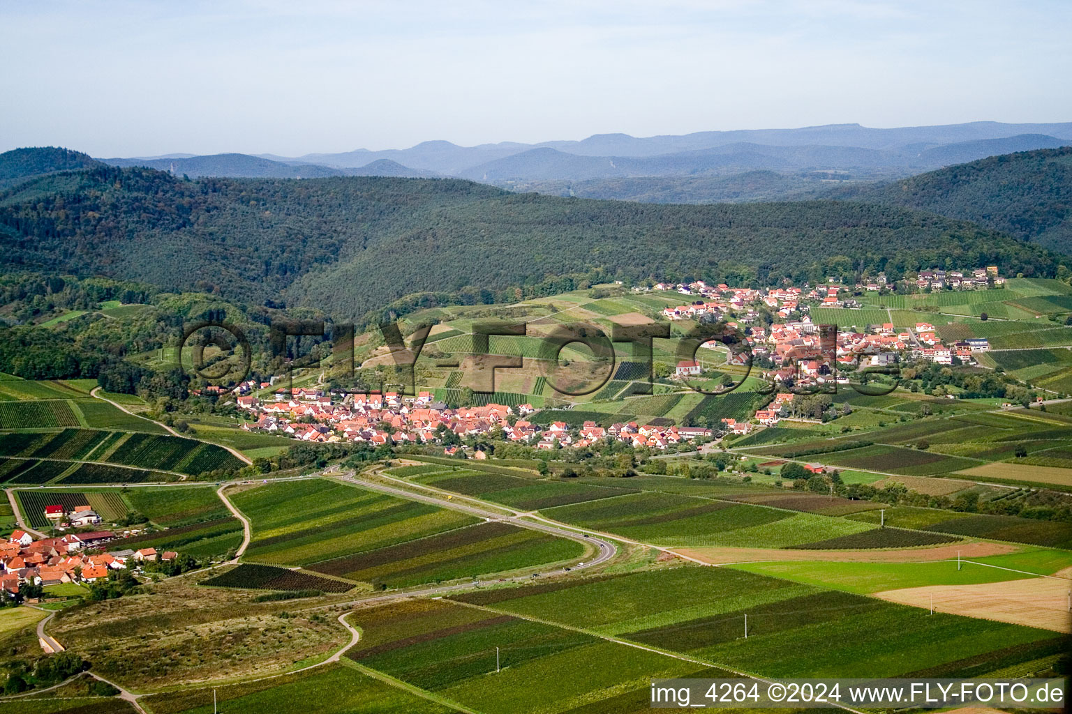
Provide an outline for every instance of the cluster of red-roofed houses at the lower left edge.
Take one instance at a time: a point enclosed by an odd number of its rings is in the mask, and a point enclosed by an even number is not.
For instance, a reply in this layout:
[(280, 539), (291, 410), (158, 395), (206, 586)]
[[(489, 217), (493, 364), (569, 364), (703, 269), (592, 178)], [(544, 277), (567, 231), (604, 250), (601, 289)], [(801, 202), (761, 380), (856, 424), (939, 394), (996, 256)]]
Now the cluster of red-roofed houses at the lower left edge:
[(172, 560), (177, 555), (158, 553), (153, 548), (104, 552), (102, 546), (115, 537), (110, 531), (98, 531), (34, 541), (26, 531), (16, 530), (0, 542), (0, 593), (14, 597), (24, 583), (94, 582), (106, 579), (111, 571), (126, 568), (131, 561)]

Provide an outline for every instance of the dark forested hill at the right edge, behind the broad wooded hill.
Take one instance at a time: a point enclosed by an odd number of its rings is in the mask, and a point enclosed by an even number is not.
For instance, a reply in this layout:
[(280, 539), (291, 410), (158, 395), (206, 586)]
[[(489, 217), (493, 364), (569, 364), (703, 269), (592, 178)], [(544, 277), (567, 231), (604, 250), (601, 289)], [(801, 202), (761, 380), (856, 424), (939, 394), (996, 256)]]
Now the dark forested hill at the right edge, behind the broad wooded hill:
[(950, 166), (857, 198), (973, 221), (1072, 254), (1072, 147)]

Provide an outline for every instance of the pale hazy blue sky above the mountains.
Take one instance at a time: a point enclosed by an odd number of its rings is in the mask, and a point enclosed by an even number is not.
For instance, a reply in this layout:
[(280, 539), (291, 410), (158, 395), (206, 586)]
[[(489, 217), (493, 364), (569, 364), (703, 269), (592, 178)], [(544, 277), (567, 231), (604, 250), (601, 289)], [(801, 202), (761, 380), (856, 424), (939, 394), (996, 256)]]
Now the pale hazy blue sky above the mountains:
[(1068, 0), (0, 0), (0, 150), (1072, 121), (1070, 36)]

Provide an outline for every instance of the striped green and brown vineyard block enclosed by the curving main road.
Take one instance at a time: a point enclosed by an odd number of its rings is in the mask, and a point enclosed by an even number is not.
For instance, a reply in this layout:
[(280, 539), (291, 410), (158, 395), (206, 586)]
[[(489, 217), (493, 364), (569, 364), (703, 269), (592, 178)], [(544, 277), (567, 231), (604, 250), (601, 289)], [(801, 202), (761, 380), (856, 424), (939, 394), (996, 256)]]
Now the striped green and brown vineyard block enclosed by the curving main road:
[(233, 502), (253, 523), (244, 560), (381, 588), (534, 567), (586, 551), (574, 541), (325, 480), (257, 486)]

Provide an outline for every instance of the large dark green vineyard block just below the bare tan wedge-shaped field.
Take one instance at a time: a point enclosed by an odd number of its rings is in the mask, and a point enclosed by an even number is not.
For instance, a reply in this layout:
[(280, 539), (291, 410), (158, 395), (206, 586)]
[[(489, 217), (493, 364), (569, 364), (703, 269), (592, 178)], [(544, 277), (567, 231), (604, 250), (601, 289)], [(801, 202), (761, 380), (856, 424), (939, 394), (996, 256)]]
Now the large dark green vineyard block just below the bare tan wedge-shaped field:
[[(675, 597), (666, 597), (666, 592)], [(921, 608), (736, 568), (682, 566), (453, 598), (769, 677), (924, 671), (957, 677), (987, 671), (988, 659), (1008, 657), (1014, 664), (1062, 647), (1052, 632), (928, 616)]]

